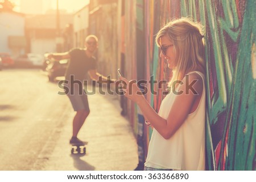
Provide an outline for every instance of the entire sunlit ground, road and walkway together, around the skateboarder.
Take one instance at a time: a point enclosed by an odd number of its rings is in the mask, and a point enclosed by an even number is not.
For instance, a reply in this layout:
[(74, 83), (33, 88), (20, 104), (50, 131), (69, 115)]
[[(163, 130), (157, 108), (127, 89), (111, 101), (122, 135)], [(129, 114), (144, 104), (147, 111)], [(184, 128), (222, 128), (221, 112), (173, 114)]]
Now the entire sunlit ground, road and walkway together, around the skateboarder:
[(79, 138), (85, 156), (71, 155), (73, 108), (40, 69), (0, 71), (0, 170), (133, 170), (136, 139), (116, 95), (90, 95)]

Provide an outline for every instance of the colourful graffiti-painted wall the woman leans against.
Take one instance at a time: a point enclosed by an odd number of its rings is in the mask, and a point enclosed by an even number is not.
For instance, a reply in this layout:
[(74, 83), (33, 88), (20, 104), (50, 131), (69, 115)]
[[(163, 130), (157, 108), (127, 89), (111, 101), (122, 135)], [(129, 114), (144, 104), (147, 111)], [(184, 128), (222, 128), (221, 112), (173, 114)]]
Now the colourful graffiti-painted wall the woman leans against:
[[(144, 1), (146, 78), (168, 79), (154, 35), (172, 18), (204, 26), (207, 62), (207, 168), (255, 170), (255, 1)], [(138, 49), (137, 49), (138, 50)], [(163, 96), (147, 95), (159, 109)], [(147, 141), (150, 129), (146, 131)]]

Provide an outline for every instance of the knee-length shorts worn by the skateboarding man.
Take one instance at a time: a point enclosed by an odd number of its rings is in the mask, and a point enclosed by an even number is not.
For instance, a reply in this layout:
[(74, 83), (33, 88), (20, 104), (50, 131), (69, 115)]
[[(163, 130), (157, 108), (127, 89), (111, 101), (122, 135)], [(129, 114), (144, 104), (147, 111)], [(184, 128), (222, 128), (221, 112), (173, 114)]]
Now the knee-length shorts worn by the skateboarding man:
[(75, 88), (72, 91), (71, 89), (69, 89), (69, 92), (66, 94), (69, 100), (71, 101), (74, 111), (79, 111), (79, 110), (90, 111), (88, 98), (83, 88), (81, 91), (81, 88), (77, 88), (75, 86)]

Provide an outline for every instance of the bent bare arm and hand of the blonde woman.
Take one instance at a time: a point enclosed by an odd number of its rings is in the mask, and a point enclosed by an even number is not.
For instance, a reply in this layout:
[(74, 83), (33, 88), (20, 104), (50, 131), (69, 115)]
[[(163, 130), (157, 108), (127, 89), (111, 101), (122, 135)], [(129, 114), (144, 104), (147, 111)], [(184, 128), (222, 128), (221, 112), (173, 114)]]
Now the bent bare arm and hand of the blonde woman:
[[(127, 88), (123, 89), (125, 91), (125, 96), (135, 101), (139, 105), (144, 117), (147, 118), (147, 121), (149, 121), (151, 125), (158, 131), (158, 133), (160, 133), (165, 139), (171, 138), (171, 136), (180, 128), (190, 113), (192, 105), (198, 95), (193, 94), (191, 90), (188, 90), (188, 86), (193, 83), (194, 79), (197, 78), (198, 77), (196, 75), (191, 75), (188, 80), (183, 79), (183, 84), (177, 91), (179, 93), (182, 92), (182, 94), (175, 96), (174, 103), (172, 104), (171, 111), (166, 120), (155, 112), (155, 110), (141, 94), (137, 84), (131, 83), (131, 81), (128, 82), (125, 78), (120, 77), (120, 79), (125, 81), (127, 84)], [(198, 80), (199, 81), (193, 84), (192, 88), (197, 93), (201, 93), (201, 90), (203, 89), (203, 81), (200, 81), (201, 79)]]

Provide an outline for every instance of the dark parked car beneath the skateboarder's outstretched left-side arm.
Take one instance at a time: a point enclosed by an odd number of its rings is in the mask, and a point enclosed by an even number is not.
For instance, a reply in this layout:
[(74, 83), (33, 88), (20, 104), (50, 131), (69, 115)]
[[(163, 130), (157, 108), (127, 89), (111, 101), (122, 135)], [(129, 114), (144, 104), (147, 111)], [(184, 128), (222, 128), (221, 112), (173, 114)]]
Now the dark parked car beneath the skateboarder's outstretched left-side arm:
[(48, 73), (48, 79), (50, 82), (55, 81), (56, 77), (63, 77), (65, 75), (68, 59), (60, 60), (60, 61), (50, 61), (46, 67), (46, 71)]

